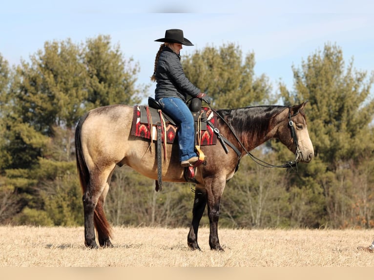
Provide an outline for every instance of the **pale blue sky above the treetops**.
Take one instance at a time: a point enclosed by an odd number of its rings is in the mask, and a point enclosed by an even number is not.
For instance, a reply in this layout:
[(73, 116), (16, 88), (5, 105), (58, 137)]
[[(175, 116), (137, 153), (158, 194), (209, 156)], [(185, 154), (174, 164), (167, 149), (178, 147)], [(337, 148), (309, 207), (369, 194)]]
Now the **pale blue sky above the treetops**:
[[(127, 2), (127, 3), (126, 3)], [(154, 57), (165, 30), (180, 28), (194, 46), (235, 43), (243, 56), (254, 52), (255, 76), (265, 74), (292, 90), (291, 66), (326, 43), (341, 47), (348, 64), (374, 71), (374, 1), (372, 0), (13, 0), (0, 8), (0, 53), (11, 65), (43, 49), (45, 41), (76, 43), (110, 35), (125, 59), (140, 64), (138, 82), (151, 84)], [(153, 95), (154, 83), (148, 95)]]

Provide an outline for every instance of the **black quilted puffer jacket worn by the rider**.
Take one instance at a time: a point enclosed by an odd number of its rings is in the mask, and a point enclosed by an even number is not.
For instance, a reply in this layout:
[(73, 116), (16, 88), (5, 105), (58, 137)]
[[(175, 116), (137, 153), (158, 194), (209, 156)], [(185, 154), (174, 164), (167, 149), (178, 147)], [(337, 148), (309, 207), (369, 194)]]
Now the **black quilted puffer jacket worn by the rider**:
[(187, 94), (196, 97), (201, 91), (186, 77), (176, 53), (165, 46), (156, 67), (155, 99), (179, 97), (186, 102)]

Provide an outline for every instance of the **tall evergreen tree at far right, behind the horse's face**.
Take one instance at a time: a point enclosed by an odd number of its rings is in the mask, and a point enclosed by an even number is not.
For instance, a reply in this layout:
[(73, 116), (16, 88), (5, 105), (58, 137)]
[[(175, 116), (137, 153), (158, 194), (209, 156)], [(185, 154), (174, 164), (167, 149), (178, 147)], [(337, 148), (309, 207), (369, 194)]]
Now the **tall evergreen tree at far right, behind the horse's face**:
[(307, 226), (327, 221), (333, 227), (352, 225), (354, 193), (373, 181), (367, 174), (366, 183), (353, 188), (353, 172), (359, 172), (360, 164), (374, 152), (374, 99), (370, 92), (374, 73), (368, 76), (366, 71), (353, 69), (353, 59), (346, 67), (342, 50), (332, 44), (292, 70), (294, 92), (281, 84), (280, 93), (286, 104), (309, 100), (308, 129), (315, 150), (308, 168), (301, 168), (300, 176), (293, 180), (293, 203), (309, 204), (305, 213), (314, 215), (304, 220)]

